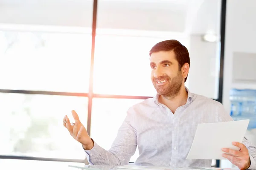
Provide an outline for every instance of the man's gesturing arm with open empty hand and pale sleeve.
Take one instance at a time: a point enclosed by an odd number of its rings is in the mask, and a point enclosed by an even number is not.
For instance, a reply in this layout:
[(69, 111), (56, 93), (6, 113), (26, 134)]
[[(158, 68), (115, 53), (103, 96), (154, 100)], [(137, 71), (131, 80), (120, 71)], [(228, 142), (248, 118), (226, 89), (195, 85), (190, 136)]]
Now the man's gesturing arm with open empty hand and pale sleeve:
[(87, 160), (96, 165), (124, 165), (128, 164), (137, 147), (137, 131), (131, 125), (134, 112), (131, 109), (122, 126), (119, 128), (117, 137), (109, 151), (104, 150), (96, 144), (88, 135), (84, 125), (81, 124), (79, 116), (75, 111), (72, 115), (75, 124), (70, 125), (67, 115), (64, 116), (63, 125), (67, 128), (70, 135), (80, 142), (87, 153)]

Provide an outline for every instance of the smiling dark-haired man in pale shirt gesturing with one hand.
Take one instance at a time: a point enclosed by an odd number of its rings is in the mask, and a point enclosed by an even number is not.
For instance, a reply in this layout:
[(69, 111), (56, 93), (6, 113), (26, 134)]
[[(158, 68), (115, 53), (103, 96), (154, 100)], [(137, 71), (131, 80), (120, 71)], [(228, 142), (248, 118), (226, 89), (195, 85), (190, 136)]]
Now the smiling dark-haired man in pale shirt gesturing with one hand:
[[(210, 167), (212, 160), (186, 159), (198, 123), (227, 122), (232, 118), (221, 103), (193, 94), (185, 87), (189, 52), (177, 40), (157, 43), (150, 51), (151, 80), (157, 91), (127, 111), (110, 150), (88, 136), (75, 111), (75, 124), (64, 116), (63, 125), (80, 142), (94, 165), (125, 165), (138, 146), (135, 164), (157, 167)], [(218, 140), (218, 139), (216, 139)], [(234, 142), (239, 151), (223, 148), (223, 157), (241, 170), (256, 168), (256, 147), (244, 138)]]

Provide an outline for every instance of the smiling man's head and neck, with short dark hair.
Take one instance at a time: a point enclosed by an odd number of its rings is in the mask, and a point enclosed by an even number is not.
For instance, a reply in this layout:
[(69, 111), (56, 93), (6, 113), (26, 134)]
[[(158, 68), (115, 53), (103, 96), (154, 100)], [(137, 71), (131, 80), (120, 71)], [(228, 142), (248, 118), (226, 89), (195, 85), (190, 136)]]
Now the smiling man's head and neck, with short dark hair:
[[(151, 80), (159, 95), (158, 101), (175, 113), (179, 106), (186, 104), (188, 93), (184, 82), (189, 73), (190, 59), (189, 53), (183, 45), (175, 46), (172, 50), (165, 50), (162, 45), (168, 42), (172, 41), (158, 43), (149, 53), (152, 69)], [(177, 53), (177, 59), (175, 53)]]

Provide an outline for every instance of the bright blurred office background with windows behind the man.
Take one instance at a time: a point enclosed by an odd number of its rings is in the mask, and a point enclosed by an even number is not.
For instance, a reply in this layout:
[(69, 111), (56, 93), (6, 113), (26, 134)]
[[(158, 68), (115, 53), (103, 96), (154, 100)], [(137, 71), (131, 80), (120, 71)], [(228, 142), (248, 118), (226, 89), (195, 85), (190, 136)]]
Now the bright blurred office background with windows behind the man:
[[(148, 54), (162, 40), (188, 48), (191, 92), (248, 118), (238, 107), (254, 92), (230, 93), (256, 89), (255, 7), (254, 0), (0, 0), (0, 164), (83, 165), (81, 144), (62, 125), (71, 110), (108, 150), (128, 108), (156, 94)], [(255, 103), (252, 95), (244, 108), (251, 120)], [(247, 136), (256, 144), (255, 129)]]

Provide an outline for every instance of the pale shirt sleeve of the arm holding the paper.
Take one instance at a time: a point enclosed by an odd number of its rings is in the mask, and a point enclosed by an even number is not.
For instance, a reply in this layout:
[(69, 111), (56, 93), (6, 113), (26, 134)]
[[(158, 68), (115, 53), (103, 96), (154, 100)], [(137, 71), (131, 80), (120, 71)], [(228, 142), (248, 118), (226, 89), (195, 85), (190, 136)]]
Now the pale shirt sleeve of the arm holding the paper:
[[(218, 122), (233, 121), (232, 117), (227, 113), (227, 111), (225, 111), (221, 103), (218, 104), (217, 121)], [(246, 137), (244, 137), (242, 143), (247, 147), (249, 151), (251, 164), (248, 169), (256, 169), (256, 146), (253, 145), (250, 141), (248, 141)]]

